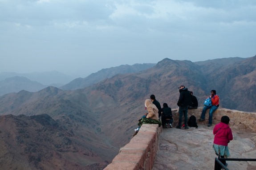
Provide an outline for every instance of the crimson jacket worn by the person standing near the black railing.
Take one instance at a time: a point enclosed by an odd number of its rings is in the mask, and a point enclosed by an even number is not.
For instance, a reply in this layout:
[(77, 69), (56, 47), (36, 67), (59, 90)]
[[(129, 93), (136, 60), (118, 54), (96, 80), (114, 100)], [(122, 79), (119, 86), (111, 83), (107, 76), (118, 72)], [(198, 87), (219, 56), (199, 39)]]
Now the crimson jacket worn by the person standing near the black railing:
[(232, 130), (229, 125), (219, 122), (213, 128), (214, 141), (216, 145), (228, 146), (229, 141), (233, 140)]

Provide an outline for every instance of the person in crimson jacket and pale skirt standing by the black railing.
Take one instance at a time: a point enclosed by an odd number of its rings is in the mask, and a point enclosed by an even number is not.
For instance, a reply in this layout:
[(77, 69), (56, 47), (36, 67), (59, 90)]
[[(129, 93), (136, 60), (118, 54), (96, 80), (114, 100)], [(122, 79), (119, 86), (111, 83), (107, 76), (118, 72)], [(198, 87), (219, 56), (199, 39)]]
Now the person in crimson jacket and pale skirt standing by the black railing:
[[(220, 122), (214, 126), (213, 150), (218, 158), (227, 158), (229, 156), (228, 143), (233, 140), (232, 130), (229, 127), (229, 117), (223, 116)], [(223, 165), (228, 166), (225, 160), (221, 160)]]

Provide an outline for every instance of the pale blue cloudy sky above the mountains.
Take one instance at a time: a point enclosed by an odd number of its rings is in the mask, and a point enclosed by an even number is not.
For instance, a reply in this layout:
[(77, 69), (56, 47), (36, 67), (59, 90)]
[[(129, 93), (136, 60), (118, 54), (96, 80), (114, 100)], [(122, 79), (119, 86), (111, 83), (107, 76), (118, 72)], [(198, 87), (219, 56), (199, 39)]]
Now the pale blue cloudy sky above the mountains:
[(256, 0), (0, 0), (0, 73), (256, 54)]

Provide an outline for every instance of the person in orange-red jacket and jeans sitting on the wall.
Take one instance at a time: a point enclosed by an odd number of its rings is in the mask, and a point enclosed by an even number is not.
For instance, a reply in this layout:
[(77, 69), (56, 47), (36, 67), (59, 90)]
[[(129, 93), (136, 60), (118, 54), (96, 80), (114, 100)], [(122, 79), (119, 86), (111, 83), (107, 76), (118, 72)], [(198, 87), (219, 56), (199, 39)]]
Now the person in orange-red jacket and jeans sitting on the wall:
[(204, 121), (205, 113), (207, 109), (210, 109), (209, 111), (209, 122), (208, 127), (212, 124), (212, 114), (215, 112), (215, 110), (219, 107), (219, 96), (216, 94), (216, 90), (211, 90), (211, 95), (209, 96), (211, 98), (211, 106), (204, 106), (203, 111), (201, 113), (201, 117), (199, 118), (199, 121)]

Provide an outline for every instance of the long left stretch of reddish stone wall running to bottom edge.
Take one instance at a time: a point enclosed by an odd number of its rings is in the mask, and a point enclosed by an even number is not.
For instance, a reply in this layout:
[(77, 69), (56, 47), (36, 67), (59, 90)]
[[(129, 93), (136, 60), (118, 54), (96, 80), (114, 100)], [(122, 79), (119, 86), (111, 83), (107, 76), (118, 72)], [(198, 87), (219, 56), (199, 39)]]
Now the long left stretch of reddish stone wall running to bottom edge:
[(151, 170), (162, 130), (157, 124), (143, 124), (104, 170)]

